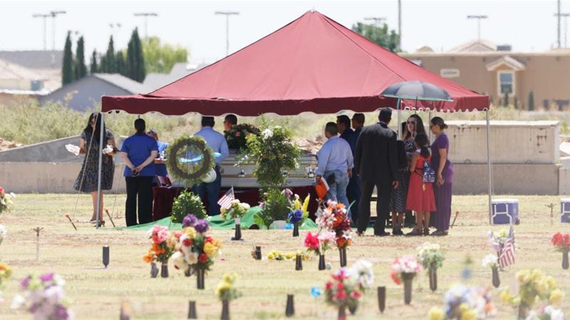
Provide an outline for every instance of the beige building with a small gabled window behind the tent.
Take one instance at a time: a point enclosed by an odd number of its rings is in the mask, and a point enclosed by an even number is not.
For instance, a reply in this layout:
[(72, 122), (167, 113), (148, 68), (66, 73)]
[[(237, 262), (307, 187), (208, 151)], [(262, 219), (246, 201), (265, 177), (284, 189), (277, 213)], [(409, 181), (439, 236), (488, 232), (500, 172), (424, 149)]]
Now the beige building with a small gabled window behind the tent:
[(569, 49), (517, 53), (510, 46), (471, 41), (440, 53), (425, 46), (400, 55), (443, 78), (489, 95), (494, 105), (502, 105), (508, 92), (510, 105), (527, 110), (532, 92), (535, 110), (570, 110)]

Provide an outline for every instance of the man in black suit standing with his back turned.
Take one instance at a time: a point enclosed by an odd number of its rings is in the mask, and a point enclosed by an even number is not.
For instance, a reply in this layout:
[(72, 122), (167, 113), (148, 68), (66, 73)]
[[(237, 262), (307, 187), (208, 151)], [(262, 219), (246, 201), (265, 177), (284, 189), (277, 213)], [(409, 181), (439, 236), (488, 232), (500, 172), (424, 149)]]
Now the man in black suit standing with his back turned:
[(380, 110), (376, 124), (362, 129), (354, 149), (354, 169), (361, 178), (361, 201), (358, 206), (358, 235), (362, 235), (370, 220), (370, 201), (374, 186), (378, 191), (374, 235), (390, 235), (384, 231), (392, 189), (398, 188), (398, 158), (396, 133), (388, 128), (392, 110)]

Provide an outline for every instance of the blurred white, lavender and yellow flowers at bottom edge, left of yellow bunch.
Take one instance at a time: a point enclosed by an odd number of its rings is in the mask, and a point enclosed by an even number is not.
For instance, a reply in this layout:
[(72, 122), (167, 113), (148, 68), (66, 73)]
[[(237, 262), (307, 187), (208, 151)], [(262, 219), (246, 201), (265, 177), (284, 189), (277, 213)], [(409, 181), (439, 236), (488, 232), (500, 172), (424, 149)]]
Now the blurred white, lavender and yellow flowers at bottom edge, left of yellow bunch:
[(493, 319), (497, 313), (489, 289), (457, 284), (445, 294), (445, 310), (437, 306), (428, 313), (430, 320)]

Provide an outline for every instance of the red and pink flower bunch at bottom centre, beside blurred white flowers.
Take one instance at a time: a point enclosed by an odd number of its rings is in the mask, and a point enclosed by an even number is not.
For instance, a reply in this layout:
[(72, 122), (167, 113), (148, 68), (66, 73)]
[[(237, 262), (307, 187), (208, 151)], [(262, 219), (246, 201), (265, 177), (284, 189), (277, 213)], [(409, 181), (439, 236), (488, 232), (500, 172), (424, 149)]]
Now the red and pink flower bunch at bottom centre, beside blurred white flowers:
[(351, 272), (341, 268), (334, 274), (332, 279), (325, 285), (325, 301), (327, 304), (336, 306), (338, 309), (354, 308), (361, 299), (361, 285), (353, 281)]

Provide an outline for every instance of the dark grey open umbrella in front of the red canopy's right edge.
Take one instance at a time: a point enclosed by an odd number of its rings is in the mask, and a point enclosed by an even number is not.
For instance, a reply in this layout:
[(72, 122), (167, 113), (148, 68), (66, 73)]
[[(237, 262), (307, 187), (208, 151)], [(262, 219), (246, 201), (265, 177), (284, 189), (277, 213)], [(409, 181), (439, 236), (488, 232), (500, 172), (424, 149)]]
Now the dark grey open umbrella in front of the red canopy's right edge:
[(447, 91), (423, 81), (398, 82), (385, 88), (380, 95), (410, 100), (453, 101)]

